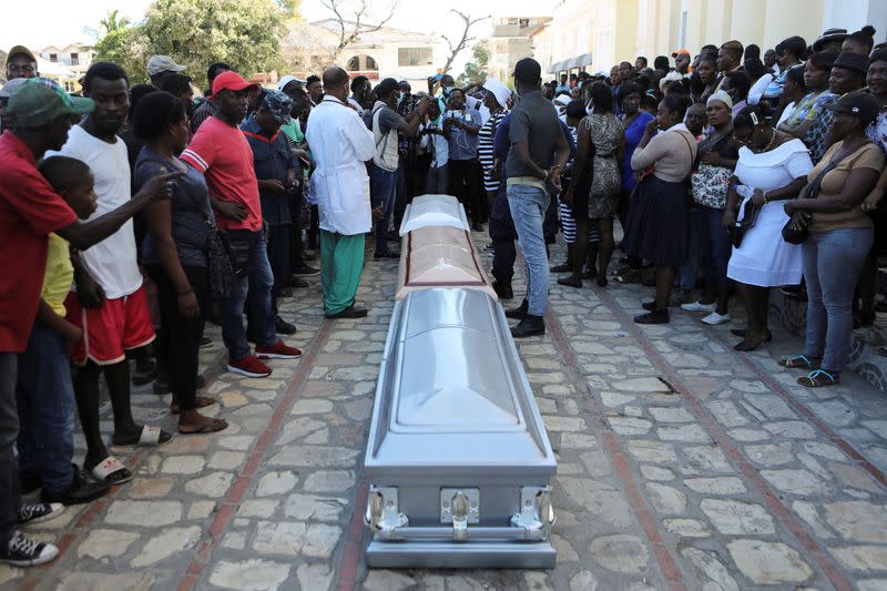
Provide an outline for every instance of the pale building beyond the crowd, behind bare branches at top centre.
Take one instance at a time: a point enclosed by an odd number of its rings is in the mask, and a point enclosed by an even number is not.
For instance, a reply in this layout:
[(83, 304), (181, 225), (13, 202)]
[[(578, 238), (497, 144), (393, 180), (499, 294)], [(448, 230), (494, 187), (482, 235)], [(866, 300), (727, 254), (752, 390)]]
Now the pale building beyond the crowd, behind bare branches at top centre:
[[(354, 26), (354, 23), (347, 23)], [(299, 78), (319, 74), (335, 64), (354, 78), (365, 75), (374, 83), (385, 78), (407, 80), (412, 90), (427, 89), (426, 80), (437, 73), (446, 60), (441, 41), (429, 34), (383, 27), (360, 33), (333, 59), (339, 42), (338, 21), (328, 19), (308, 24), (293, 23), (282, 41), (284, 59)]]

